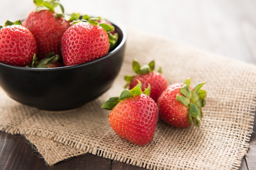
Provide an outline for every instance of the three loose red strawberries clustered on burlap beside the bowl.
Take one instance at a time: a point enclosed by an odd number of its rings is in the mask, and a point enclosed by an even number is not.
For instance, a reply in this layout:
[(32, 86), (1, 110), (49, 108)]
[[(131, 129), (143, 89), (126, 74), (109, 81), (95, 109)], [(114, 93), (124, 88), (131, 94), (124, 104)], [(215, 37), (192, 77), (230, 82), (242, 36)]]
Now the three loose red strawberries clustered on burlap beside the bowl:
[(185, 128), (202, 121), (202, 107), (207, 92), (201, 87), (205, 82), (190, 86), (184, 83), (167, 85), (162, 69), (154, 71), (155, 62), (141, 66), (132, 62), (136, 75), (125, 76), (126, 88), (119, 97), (111, 97), (101, 108), (111, 110), (109, 122), (112, 129), (133, 144), (143, 146), (153, 139), (158, 117), (166, 124)]

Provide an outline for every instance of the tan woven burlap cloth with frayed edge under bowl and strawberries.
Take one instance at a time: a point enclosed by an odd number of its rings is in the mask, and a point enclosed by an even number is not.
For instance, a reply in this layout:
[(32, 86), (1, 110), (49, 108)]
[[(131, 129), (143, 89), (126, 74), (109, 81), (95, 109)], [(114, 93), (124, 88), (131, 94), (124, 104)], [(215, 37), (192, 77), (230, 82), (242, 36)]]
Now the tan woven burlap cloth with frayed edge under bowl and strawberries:
[[(101, 105), (119, 96), (131, 63), (155, 60), (168, 84), (206, 81), (208, 92), (201, 128), (172, 128), (158, 121), (153, 140), (135, 146), (121, 139)], [(155, 170), (234, 170), (249, 147), (256, 106), (256, 66), (193, 49), (164, 38), (128, 30), (124, 64), (112, 88), (74, 110), (51, 112), (24, 106), (0, 89), (0, 130), (24, 135), (45, 162), (85, 153)]]

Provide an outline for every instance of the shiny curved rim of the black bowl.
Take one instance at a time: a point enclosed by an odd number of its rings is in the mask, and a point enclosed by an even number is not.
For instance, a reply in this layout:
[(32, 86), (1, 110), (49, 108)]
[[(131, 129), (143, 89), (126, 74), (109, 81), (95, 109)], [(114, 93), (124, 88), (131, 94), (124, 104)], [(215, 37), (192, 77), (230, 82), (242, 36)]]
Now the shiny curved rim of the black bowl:
[(118, 46), (115, 47), (115, 49), (110, 51), (107, 55), (105, 55), (103, 57), (100, 57), (96, 60), (92, 60), (90, 62), (86, 62), (86, 63), (83, 63), (83, 64), (77, 64), (77, 65), (74, 65), (74, 66), (61, 66), (61, 67), (54, 67), (54, 68), (34, 68), (34, 67), (13, 66), (13, 65), (10, 65), (10, 64), (2, 63), (2, 62), (0, 62), (0, 65), (10, 67), (10, 68), (19, 69), (19, 70), (27, 70), (27, 71), (53, 71), (53, 70), (66, 70), (66, 69), (72, 69), (72, 68), (79, 68), (79, 67), (83, 67), (83, 66), (86, 66), (86, 65), (89, 65), (89, 64), (93, 64), (93, 63), (98, 62), (100, 60), (104, 60), (105, 58), (110, 57), (112, 54), (116, 53), (121, 48), (121, 46), (124, 46), (124, 44), (127, 40), (127, 32), (124, 29), (124, 27), (119, 25), (119, 24), (116, 24), (115, 22), (111, 22), (111, 23), (115, 27), (118, 27), (120, 29), (120, 31), (123, 34), (123, 38), (122, 38), (121, 42), (118, 44)]

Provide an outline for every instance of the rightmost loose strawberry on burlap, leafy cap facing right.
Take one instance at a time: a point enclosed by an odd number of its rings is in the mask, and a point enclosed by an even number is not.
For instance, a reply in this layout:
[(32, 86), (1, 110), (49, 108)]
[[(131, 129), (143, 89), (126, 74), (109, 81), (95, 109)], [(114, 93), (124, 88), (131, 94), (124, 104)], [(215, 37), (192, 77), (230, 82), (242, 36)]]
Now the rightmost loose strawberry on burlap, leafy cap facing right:
[(177, 128), (191, 124), (199, 127), (203, 116), (202, 107), (206, 103), (204, 98), (207, 96), (207, 92), (200, 89), (204, 84), (202, 82), (191, 88), (189, 78), (184, 84), (168, 86), (157, 100), (159, 118)]

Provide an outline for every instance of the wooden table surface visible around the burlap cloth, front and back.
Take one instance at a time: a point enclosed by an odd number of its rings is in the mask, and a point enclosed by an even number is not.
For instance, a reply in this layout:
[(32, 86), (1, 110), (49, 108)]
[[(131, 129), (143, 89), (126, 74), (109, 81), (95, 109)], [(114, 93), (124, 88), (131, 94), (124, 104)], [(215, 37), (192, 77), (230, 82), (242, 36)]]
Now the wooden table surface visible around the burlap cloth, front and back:
[[(126, 28), (143, 30), (225, 57), (256, 64), (255, 0), (61, 0), (67, 13), (104, 16)], [(79, 5), (77, 5), (79, 4)], [(75, 6), (76, 5), (76, 6)], [(1, 2), (0, 23), (25, 18), (32, 0)], [(110, 10), (113, 9), (113, 10)], [(159, 25), (159, 26), (157, 26)], [(255, 77), (252, 77), (255, 78)], [(255, 119), (254, 119), (255, 121)], [(255, 127), (254, 127), (254, 131)], [(92, 154), (45, 166), (24, 137), (0, 132), (0, 170), (142, 170)], [(256, 169), (256, 134), (240, 170)]]

